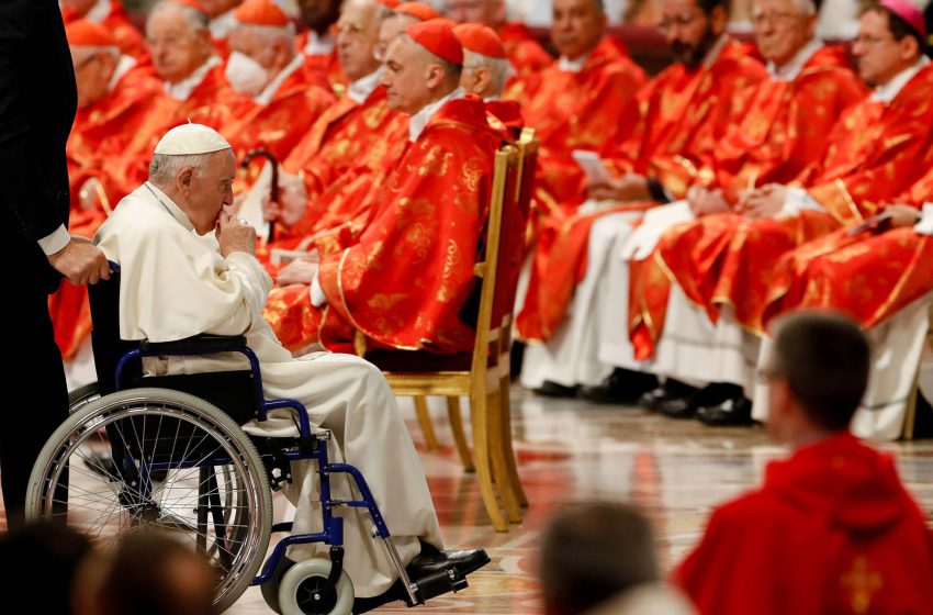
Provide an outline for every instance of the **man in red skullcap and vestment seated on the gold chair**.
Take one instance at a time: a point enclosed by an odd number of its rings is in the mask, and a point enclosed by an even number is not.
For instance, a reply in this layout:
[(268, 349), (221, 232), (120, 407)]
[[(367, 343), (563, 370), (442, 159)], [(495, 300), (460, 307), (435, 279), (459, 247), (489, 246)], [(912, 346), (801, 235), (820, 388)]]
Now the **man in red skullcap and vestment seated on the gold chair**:
[[(487, 214), (493, 158), (502, 133), (482, 101), (459, 88), (463, 54), (451, 26), (409, 26), (389, 46), (382, 83), (390, 108), (409, 113), (409, 141), (375, 188), (363, 224), (315, 243), (311, 288), (270, 297), (266, 314), (289, 347), (315, 338), (352, 351), (357, 331), (375, 347), (457, 353), (474, 331), (461, 311), (475, 284), (473, 264)], [(284, 270), (283, 270), (284, 272)]]

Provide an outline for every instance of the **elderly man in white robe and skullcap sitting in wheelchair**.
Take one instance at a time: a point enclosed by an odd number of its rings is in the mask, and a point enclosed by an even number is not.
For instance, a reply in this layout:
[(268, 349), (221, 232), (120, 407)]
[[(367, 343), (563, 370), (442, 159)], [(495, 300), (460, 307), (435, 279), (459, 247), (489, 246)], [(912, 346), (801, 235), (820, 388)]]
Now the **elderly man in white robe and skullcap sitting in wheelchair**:
[[(240, 224), (229, 209), (235, 174), (233, 149), (207, 126), (178, 126), (156, 146), (149, 181), (121, 201), (95, 237), (121, 266), (121, 337), (169, 342), (202, 333), (245, 334), (259, 357), (266, 396), (301, 401), (314, 424), (333, 432), (331, 459), (363, 473), (413, 575), (440, 562), (463, 574), (483, 566), (488, 557), (481, 549), (439, 550), (440, 527), (424, 470), (379, 369), (349, 355), (293, 359), (262, 318), (272, 280), (255, 257), (255, 230)], [(226, 355), (144, 364), (155, 374), (244, 367), (241, 358)], [(254, 421), (244, 428), (265, 436), (296, 434), (289, 414), (270, 413), (268, 422)], [(296, 507), (293, 532), (317, 532), (315, 468), (296, 466), (293, 483), (284, 488)], [(335, 483), (338, 497), (348, 495), (346, 490), (346, 482)], [(351, 508), (338, 514), (346, 521), (345, 570), (358, 599), (401, 597), (395, 568), (370, 536), (368, 513)], [(322, 548), (292, 547), (289, 555), (304, 559)]]

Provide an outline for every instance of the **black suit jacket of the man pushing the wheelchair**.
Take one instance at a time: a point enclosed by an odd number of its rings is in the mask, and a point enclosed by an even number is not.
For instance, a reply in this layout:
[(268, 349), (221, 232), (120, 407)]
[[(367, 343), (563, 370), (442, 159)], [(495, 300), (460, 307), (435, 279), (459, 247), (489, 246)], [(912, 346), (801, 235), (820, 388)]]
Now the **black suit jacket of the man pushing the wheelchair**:
[(56, 0), (0, 0), (2, 248), (50, 292), (59, 277), (36, 243), (68, 224), (65, 142), (78, 92)]

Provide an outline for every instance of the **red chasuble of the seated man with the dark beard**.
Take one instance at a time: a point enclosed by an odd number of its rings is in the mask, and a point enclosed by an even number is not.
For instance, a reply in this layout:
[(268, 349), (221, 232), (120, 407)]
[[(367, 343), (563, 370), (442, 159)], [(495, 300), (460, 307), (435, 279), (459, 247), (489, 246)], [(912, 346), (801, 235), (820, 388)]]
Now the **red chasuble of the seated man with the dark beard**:
[[(655, 77), (637, 96), (639, 116), (631, 136), (608, 143), (607, 166), (657, 177), (675, 194), (686, 192), (696, 174), (730, 126), (749, 111), (755, 86), (766, 76), (751, 47), (729, 40), (709, 66), (687, 70), (677, 64)], [(574, 198), (583, 200), (577, 183)], [(553, 216), (538, 234), (525, 306), (518, 315), (520, 336), (547, 339), (563, 318), (576, 283), (586, 272), (589, 228), (609, 212), (643, 210), (653, 203), (628, 203), (596, 214)]]

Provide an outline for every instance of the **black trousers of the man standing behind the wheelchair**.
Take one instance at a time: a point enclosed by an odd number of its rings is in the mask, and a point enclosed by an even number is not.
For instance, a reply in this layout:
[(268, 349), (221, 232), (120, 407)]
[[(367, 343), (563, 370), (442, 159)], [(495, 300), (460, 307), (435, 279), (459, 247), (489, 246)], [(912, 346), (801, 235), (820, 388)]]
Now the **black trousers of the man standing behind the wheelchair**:
[(23, 521), (33, 465), (68, 416), (68, 388), (48, 315), (48, 295), (30, 268), (18, 267), (12, 256), (4, 260), (13, 271), (7, 280), (7, 332), (0, 336), (0, 353), (5, 355), (0, 359), (5, 393), (0, 400), (0, 482), (8, 524), (16, 527)]

